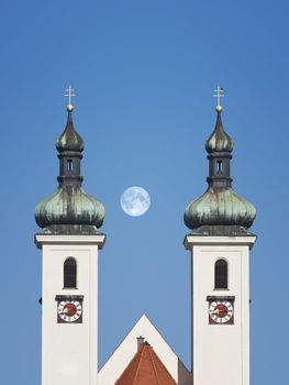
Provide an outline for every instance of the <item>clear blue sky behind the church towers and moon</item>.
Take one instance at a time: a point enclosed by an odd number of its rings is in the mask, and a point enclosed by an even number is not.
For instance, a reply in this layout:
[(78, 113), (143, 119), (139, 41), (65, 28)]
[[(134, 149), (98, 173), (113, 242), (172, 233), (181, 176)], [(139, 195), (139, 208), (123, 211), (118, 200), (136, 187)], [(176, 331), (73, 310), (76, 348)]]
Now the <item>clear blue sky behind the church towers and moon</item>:
[[(144, 312), (190, 362), (182, 215), (205, 190), (220, 84), (234, 188), (258, 211), (252, 384), (288, 382), (288, 13), (285, 0), (1, 0), (1, 383), (41, 381), (34, 207), (57, 186), (69, 84), (84, 186), (107, 209), (100, 365)], [(132, 185), (151, 194), (140, 218), (120, 207)]]

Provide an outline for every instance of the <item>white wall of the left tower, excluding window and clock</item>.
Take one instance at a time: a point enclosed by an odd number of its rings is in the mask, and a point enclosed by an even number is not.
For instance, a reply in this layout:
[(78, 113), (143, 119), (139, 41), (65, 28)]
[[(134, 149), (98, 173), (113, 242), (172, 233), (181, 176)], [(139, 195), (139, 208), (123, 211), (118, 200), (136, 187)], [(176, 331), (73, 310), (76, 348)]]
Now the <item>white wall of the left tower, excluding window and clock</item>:
[[(42, 385), (97, 384), (98, 250), (104, 235), (35, 235), (43, 251)], [(64, 288), (64, 262), (77, 261), (77, 288)], [(57, 323), (57, 295), (84, 296), (82, 323)]]

